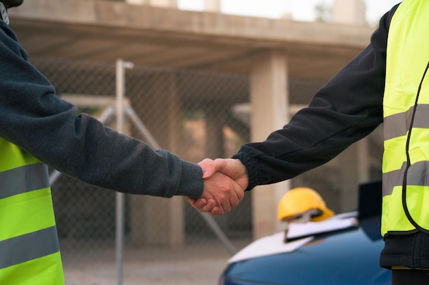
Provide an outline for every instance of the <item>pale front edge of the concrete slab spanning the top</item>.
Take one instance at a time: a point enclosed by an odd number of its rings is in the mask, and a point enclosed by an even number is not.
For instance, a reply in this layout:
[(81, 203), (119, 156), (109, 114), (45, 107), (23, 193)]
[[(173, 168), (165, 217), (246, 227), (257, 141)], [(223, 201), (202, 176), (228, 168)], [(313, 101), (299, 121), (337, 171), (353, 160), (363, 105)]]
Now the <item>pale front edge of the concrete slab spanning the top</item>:
[[(49, 5), (49, 10), (46, 5)], [(363, 46), (372, 32), (368, 27), (182, 11), (101, 0), (32, 0), (10, 10), (10, 16), (47, 22), (199, 34), (230, 40), (238, 38), (258, 42), (312, 42), (342, 46)]]

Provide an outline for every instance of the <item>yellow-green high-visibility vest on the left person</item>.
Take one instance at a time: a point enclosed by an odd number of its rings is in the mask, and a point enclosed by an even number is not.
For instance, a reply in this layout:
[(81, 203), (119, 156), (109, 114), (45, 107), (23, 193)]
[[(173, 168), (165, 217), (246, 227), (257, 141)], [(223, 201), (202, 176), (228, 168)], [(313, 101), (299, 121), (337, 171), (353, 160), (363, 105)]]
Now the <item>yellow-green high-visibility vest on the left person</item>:
[(47, 165), (1, 137), (0, 284), (64, 284)]

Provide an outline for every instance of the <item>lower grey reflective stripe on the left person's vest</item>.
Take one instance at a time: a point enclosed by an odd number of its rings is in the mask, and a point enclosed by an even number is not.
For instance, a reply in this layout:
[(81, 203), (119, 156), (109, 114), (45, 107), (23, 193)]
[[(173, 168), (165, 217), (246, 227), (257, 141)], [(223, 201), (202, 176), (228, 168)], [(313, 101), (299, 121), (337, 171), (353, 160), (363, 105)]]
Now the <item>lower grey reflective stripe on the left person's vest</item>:
[(0, 269), (59, 251), (56, 226), (6, 239), (0, 241)]

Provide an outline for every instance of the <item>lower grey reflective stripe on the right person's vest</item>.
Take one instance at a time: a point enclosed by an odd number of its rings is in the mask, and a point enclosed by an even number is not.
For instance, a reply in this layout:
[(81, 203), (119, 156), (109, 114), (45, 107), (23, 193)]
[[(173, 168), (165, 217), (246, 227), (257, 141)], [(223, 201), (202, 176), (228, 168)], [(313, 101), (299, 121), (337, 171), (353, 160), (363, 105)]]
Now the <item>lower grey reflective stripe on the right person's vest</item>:
[[(383, 174), (383, 196), (391, 195), (393, 187), (402, 185), (406, 163), (402, 164), (401, 169)], [(408, 169), (406, 177), (407, 185), (429, 186), (429, 161), (419, 161), (414, 163)]]

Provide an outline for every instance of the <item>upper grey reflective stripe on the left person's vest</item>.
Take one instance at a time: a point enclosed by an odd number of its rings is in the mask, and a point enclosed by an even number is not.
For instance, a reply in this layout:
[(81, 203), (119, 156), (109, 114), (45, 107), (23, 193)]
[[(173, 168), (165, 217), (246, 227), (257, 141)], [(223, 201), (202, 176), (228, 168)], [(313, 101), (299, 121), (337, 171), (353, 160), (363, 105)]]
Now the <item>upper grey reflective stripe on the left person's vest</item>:
[(45, 163), (36, 163), (0, 172), (0, 199), (49, 187)]

